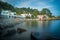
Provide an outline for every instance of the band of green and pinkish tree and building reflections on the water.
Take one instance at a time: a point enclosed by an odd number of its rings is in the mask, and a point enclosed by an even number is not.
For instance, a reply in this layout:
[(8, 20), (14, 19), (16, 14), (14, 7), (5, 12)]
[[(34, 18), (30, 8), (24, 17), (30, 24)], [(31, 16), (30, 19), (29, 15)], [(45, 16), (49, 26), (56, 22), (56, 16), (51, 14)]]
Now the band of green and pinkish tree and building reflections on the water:
[(26, 26), (31, 26), (31, 27), (49, 27), (50, 26), (50, 21), (26, 21)]

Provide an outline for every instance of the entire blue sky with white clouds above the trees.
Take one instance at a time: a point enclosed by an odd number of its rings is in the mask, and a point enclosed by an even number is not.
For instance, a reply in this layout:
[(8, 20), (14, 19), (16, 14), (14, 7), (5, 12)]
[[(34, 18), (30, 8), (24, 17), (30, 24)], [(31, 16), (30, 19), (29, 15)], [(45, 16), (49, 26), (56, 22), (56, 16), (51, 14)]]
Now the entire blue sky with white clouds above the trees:
[(14, 7), (30, 7), (41, 11), (43, 8), (48, 8), (54, 16), (60, 16), (60, 0), (2, 0)]

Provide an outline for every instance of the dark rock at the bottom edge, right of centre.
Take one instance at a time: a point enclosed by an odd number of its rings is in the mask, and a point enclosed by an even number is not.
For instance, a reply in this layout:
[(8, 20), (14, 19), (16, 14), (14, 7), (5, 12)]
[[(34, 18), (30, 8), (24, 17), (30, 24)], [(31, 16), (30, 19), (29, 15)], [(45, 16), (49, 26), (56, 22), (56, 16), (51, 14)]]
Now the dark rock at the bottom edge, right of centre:
[[(33, 34), (35, 34), (35, 35), (33, 35)], [(31, 40), (57, 40), (56, 38), (54, 38), (53, 36), (51, 36), (51, 35), (46, 35), (46, 36), (43, 36), (43, 37), (39, 37), (38, 38), (38, 36), (36, 36), (36, 35), (38, 35), (39, 36), (39, 34), (37, 33), (31, 33)]]

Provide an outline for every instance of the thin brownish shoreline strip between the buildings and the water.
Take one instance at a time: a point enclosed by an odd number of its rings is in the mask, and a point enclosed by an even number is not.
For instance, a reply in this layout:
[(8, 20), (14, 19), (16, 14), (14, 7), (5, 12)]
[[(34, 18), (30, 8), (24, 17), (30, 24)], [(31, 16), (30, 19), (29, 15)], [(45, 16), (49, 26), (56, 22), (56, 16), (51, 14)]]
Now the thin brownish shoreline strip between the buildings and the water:
[[(8, 18), (9, 19), (9, 18)], [(8, 19), (6, 19), (6, 20), (8, 20)], [(12, 18), (13, 19), (13, 18)], [(10, 20), (12, 20), (12, 19), (10, 19)], [(2, 20), (4, 20), (4, 19), (2, 19)], [(35, 19), (28, 19), (28, 18), (26, 18), (26, 19), (20, 19), (20, 18), (14, 18), (14, 21), (15, 22), (19, 22), (19, 21), (22, 21), (22, 20), (24, 20), (24, 21), (26, 21), (26, 20), (38, 20), (38, 21), (50, 21), (50, 20), (60, 20), (60, 18), (47, 18), (47, 19), (43, 19), (43, 20), (40, 20), (40, 19), (37, 19), (37, 18), (35, 18)]]

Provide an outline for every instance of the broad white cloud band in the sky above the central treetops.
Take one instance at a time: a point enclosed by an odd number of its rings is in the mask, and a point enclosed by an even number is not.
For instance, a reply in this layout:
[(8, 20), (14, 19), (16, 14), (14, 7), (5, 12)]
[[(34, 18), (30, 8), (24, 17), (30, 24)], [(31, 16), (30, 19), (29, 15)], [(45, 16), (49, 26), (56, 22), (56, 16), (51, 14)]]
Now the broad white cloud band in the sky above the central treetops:
[(16, 7), (30, 7), (33, 9), (38, 9), (41, 10), (42, 8), (52, 8), (52, 5), (48, 5), (46, 2), (43, 1), (37, 1), (37, 0), (28, 0), (28, 1), (23, 1), (19, 4), (16, 5)]

